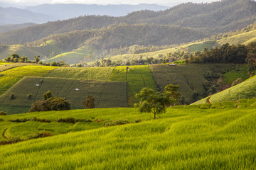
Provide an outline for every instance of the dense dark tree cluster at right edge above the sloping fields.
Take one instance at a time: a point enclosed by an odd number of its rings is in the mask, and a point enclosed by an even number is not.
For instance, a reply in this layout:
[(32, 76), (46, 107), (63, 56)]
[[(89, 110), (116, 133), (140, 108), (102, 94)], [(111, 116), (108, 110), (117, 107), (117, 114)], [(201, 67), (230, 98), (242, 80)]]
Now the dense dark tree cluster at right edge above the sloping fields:
[(226, 43), (221, 47), (215, 47), (211, 50), (205, 49), (203, 52), (197, 52), (195, 56), (186, 58), (187, 63), (235, 63), (250, 64), (253, 69), (256, 66), (256, 42), (250, 42), (248, 45), (229, 45)]

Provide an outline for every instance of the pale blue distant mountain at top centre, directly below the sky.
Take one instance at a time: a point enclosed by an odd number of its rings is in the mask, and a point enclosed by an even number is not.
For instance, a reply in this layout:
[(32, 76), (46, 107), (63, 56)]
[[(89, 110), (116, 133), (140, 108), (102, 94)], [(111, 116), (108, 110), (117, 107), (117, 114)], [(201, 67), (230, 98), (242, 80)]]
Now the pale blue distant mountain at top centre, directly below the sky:
[(139, 5), (85, 5), (85, 4), (43, 4), (39, 6), (29, 6), (26, 9), (53, 16), (60, 20), (75, 18), (85, 15), (100, 16), (125, 16), (128, 13), (141, 10), (164, 11), (167, 6), (156, 4), (139, 4)]

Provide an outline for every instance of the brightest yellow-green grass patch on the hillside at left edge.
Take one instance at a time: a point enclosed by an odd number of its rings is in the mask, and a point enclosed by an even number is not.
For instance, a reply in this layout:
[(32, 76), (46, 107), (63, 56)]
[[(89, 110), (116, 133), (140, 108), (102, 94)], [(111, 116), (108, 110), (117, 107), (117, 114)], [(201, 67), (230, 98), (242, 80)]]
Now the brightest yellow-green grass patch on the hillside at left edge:
[(46, 77), (53, 69), (55, 67), (29, 65), (1, 72), (3, 76), (0, 77), (0, 95), (4, 94), (5, 91), (14, 86), (23, 77)]

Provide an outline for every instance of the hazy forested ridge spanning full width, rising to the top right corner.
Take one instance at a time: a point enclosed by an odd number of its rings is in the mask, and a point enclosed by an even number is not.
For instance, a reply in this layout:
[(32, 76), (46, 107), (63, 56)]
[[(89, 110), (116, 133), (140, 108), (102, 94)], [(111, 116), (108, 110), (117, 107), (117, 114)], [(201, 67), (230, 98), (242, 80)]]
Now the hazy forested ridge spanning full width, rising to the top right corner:
[(256, 21), (256, 2), (223, 0), (211, 4), (181, 4), (166, 11), (138, 11), (123, 17), (83, 16), (65, 21), (10, 31), (0, 35), (1, 42), (31, 42), (56, 33), (107, 27), (119, 23), (154, 23), (200, 30), (208, 36), (245, 28)]

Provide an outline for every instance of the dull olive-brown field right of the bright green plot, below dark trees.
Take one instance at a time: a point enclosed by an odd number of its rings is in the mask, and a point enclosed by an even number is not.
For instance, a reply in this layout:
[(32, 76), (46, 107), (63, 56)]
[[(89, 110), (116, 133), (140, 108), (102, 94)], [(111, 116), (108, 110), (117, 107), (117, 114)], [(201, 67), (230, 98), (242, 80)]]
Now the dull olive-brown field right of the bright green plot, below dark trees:
[(169, 67), (168, 64), (152, 64), (149, 68), (161, 91), (164, 91), (168, 84), (179, 85), (181, 96), (191, 99), (194, 91), (201, 96), (206, 92), (203, 84), (207, 71), (218, 74), (227, 67), (232, 67), (232, 64), (178, 64), (175, 67)]

